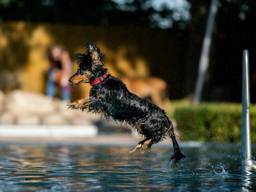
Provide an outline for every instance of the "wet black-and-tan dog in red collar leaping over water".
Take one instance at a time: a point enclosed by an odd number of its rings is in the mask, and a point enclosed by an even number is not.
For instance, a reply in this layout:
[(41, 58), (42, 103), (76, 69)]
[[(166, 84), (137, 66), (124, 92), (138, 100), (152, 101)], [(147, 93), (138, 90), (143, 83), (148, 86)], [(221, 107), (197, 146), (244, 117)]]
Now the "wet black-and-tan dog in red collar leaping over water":
[[(162, 141), (165, 136), (172, 139), (174, 155), (170, 158), (172, 165), (180, 162), (185, 155), (180, 151), (173, 125), (163, 109), (141, 99), (129, 92), (125, 84), (118, 78), (111, 76), (103, 68), (104, 54), (94, 43), (86, 43), (85, 53), (77, 53), (75, 59), (78, 64), (77, 72), (70, 77), (72, 84), (90, 83), (92, 88), (89, 97), (76, 100), (67, 105), (72, 109), (88, 109), (90, 112), (103, 114), (121, 123), (130, 124), (145, 139), (140, 141), (135, 149), (144, 152), (151, 145)], [(133, 152), (131, 151), (131, 152)], [(169, 161), (169, 162), (170, 162)]]

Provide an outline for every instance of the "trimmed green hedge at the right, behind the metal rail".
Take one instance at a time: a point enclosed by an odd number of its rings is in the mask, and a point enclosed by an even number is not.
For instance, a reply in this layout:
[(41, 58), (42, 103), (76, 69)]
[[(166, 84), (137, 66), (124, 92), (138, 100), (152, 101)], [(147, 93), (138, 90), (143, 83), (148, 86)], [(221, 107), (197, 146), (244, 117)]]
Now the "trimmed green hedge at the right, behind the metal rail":
[[(241, 140), (241, 104), (202, 103), (199, 106), (176, 106), (172, 115), (177, 121), (182, 140)], [(256, 105), (251, 105), (251, 138), (252, 142), (256, 142)]]

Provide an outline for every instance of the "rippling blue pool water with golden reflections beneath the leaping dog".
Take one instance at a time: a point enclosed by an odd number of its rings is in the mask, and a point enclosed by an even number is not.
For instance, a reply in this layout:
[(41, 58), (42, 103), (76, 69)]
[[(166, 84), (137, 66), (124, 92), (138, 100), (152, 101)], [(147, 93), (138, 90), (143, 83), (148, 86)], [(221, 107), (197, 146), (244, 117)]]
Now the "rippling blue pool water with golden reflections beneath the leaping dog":
[(183, 145), (187, 158), (175, 168), (171, 145), (126, 155), (131, 148), (0, 143), (0, 192), (256, 190), (255, 172), (240, 171), (239, 145)]

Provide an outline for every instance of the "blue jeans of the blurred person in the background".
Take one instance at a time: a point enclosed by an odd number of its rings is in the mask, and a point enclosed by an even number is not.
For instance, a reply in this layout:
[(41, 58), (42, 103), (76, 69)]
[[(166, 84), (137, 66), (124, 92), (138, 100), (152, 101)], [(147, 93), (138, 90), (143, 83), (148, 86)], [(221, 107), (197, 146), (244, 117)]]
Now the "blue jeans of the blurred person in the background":
[[(54, 75), (54, 69), (50, 69), (48, 72), (48, 81), (46, 85), (46, 95), (50, 98), (53, 98), (56, 94), (56, 84), (52, 80), (52, 76)], [(61, 88), (61, 99), (69, 100), (70, 99), (70, 85), (68, 84), (65, 87), (60, 86)]]

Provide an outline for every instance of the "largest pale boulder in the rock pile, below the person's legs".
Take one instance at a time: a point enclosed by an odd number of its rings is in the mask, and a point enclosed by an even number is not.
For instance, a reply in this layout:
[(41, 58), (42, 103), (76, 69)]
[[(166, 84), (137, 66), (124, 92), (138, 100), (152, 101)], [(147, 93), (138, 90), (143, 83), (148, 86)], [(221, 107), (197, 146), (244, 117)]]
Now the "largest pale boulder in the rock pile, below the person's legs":
[(47, 115), (54, 113), (56, 104), (43, 94), (15, 90), (5, 100), (6, 110), (14, 115)]

